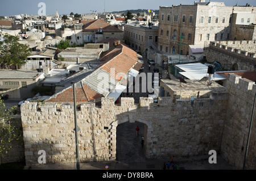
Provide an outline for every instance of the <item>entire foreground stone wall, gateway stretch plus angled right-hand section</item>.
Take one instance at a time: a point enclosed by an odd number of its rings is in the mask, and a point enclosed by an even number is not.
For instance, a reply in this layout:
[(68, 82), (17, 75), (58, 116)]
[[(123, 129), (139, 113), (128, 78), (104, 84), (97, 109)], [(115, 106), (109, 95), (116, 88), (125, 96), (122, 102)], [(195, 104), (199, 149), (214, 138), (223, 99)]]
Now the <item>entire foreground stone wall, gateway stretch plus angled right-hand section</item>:
[[(81, 162), (113, 161), (116, 157), (116, 131), (127, 121), (146, 125), (144, 147), (147, 158), (171, 155), (195, 156), (216, 150), (238, 169), (243, 155), (253, 100), (254, 82), (229, 74), (226, 92), (211, 92), (209, 98), (170, 97), (102, 98), (101, 107), (81, 103), (77, 111)], [(255, 115), (255, 113), (254, 113)], [(38, 164), (38, 151), (45, 150), (47, 163), (75, 162), (73, 104), (25, 102), (21, 106), (26, 165)], [(254, 116), (246, 169), (256, 169), (256, 123)]]

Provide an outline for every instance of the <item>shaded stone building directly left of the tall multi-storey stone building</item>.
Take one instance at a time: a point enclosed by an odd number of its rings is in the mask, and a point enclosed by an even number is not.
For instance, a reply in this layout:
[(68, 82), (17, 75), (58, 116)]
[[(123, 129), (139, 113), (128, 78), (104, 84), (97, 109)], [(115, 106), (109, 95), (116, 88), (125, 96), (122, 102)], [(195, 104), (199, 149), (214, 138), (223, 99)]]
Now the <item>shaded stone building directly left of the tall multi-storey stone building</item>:
[(125, 24), (124, 40), (127, 45), (135, 50), (143, 52), (146, 48), (156, 46), (158, 43), (158, 27), (157, 26), (140, 26)]

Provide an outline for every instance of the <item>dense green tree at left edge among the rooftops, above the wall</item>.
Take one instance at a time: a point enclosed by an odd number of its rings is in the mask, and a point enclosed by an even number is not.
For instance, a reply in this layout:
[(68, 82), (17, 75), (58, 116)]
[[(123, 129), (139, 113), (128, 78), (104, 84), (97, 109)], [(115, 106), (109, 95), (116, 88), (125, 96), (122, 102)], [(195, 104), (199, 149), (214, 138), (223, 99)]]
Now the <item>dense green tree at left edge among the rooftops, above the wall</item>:
[(19, 66), (26, 64), (27, 57), (30, 56), (28, 45), (20, 44), (16, 36), (5, 35), (0, 43), (0, 65)]

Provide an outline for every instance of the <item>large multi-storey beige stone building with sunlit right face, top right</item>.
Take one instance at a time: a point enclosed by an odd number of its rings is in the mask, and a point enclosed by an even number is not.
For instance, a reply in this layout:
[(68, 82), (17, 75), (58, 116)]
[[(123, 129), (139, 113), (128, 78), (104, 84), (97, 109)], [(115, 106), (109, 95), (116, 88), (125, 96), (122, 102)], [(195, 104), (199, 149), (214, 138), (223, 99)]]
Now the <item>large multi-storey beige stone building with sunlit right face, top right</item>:
[(205, 1), (159, 9), (158, 49), (180, 54), (188, 54), (189, 45), (208, 47), (210, 41), (229, 40), (232, 15), (255, 13), (255, 7), (249, 5), (225, 6), (223, 2)]

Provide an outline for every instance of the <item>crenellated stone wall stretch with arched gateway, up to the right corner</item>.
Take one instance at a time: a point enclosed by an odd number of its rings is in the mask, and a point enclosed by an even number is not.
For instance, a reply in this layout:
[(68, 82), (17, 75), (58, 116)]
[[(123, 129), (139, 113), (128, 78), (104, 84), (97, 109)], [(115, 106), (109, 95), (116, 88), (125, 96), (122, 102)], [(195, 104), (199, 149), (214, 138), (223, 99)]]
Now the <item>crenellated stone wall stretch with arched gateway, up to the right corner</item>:
[[(191, 101), (171, 98), (102, 98), (101, 108), (82, 103), (77, 111), (81, 162), (115, 160), (116, 130), (119, 124), (138, 121), (146, 125), (147, 158), (167, 155), (205, 155), (220, 151), (226, 116), (226, 94)], [(75, 133), (72, 103), (25, 102), (21, 106), (26, 164), (38, 163), (38, 151), (45, 150), (47, 163), (75, 162)], [(127, 135), (129, 136), (129, 135)]]

